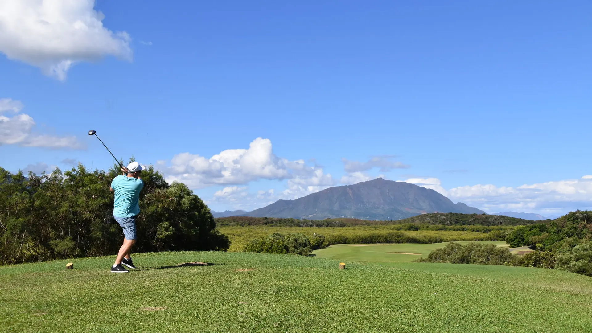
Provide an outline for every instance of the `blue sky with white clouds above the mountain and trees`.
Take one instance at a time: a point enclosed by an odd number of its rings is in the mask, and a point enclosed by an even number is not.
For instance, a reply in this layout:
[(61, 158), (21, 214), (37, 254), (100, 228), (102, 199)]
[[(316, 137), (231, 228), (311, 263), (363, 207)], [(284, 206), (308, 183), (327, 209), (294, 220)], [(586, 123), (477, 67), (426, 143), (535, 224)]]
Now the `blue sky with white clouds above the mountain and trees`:
[(67, 3), (0, 4), (11, 171), (110, 167), (94, 129), (213, 210), (378, 176), (592, 207), (589, 1)]

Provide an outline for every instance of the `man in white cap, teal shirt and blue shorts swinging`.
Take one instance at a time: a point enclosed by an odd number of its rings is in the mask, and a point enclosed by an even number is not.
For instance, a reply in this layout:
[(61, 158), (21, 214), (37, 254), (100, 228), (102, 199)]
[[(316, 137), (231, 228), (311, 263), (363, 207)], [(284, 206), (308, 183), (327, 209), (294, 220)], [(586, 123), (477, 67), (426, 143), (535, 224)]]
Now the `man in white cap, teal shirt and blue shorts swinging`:
[(131, 162), (127, 168), (121, 168), (124, 175), (118, 175), (111, 182), (111, 192), (115, 192), (113, 202), (113, 217), (123, 229), (123, 245), (119, 249), (119, 254), (115, 259), (111, 273), (129, 273), (122, 265), (129, 268), (136, 268), (131, 261), (131, 246), (136, 242), (136, 215), (140, 213), (138, 201), (140, 191), (144, 187), (140, 174), (146, 167), (142, 167), (138, 162)]

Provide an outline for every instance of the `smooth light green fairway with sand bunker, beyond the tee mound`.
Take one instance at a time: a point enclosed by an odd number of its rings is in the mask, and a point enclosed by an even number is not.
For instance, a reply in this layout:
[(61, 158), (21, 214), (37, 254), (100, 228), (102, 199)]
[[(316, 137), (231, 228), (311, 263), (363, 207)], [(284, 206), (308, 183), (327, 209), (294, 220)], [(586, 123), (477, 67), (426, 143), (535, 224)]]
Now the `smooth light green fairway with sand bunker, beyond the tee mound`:
[[(468, 242), (458, 243), (464, 245)], [(506, 242), (478, 243), (508, 246)], [(339, 261), (411, 262), (417, 258), (426, 257), (431, 251), (442, 248), (446, 244), (448, 242), (435, 244), (337, 244), (313, 251), (313, 254), (320, 258)]]

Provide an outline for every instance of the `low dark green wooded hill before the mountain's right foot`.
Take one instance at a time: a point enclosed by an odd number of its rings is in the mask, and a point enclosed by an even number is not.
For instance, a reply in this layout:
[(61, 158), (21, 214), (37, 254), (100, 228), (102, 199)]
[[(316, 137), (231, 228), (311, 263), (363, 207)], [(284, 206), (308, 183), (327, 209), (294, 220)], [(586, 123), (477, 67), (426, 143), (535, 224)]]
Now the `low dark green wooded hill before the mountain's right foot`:
[(417, 223), (430, 225), (480, 225), (480, 226), (517, 226), (532, 225), (535, 220), (517, 219), (516, 217), (487, 214), (457, 214), (457, 213), (432, 213), (409, 217), (398, 220), (397, 223)]

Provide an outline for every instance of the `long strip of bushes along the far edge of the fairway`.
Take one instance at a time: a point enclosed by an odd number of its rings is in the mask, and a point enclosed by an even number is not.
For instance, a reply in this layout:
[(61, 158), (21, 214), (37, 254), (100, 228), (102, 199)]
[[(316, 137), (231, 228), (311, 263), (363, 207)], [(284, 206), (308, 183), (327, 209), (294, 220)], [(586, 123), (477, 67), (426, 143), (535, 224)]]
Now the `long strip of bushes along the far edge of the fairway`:
[(496, 230), (496, 232), (484, 233), (480, 239), (466, 235), (410, 235), (402, 231), (365, 232), (355, 235), (341, 233), (318, 235), (315, 233), (312, 236), (302, 233), (272, 233), (265, 237), (252, 239), (244, 246), (243, 252), (308, 255), (315, 249), (323, 249), (334, 244), (432, 244), (460, 241), (503, 241), (509, 232), (510, 230)]

